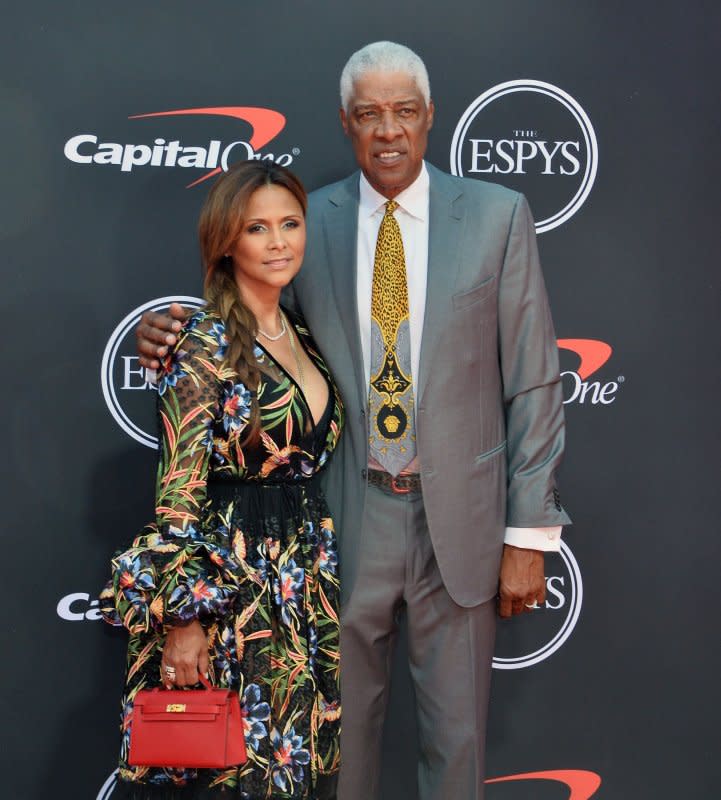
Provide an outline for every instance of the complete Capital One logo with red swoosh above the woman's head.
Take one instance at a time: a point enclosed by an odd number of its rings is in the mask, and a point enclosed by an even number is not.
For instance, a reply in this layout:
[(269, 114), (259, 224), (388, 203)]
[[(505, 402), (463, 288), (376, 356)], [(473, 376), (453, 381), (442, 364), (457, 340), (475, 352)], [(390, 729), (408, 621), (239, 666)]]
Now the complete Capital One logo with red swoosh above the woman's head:
[(261, 148), (273, 140), (285, 127), (285, 117), (270, 108), (247, 106), (213, 106), (210, 108), (182, 108), (176, 111), (156, 111), (135, 114), (128, 119), (150, 119), (157, 117), (225, 117), (243, 121), (251, 128), (250, 137), (224, 144), (220, 139), (210, 139), (202, 146), (181, 143), (180, 139), (155, 137), (152, 144), (121, 144), (101, 142), (95, 133), (80, 133), (65, 142), (65, 158), (75, 164), (111, 164), (121, 172), (132, 172), (137, 167), (180, 167), (205, 169), (207, 172), (191, 181), (186, 188), (226, 172), (235, 161), (267, 159), (276, 164), (289, 166), (300, 154), (294, 147), (290, 153), (262, 153)]

